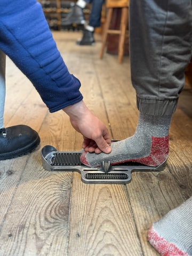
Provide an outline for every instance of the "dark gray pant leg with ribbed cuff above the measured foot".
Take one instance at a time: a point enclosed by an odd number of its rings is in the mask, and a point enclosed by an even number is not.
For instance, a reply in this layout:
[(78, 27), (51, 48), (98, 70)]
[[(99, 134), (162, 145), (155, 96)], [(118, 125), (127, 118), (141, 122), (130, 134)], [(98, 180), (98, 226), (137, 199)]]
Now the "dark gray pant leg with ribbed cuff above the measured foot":
[(191, 42), (191, 0), (130, 1), (131, 76), (141, 113), (174, 113)]

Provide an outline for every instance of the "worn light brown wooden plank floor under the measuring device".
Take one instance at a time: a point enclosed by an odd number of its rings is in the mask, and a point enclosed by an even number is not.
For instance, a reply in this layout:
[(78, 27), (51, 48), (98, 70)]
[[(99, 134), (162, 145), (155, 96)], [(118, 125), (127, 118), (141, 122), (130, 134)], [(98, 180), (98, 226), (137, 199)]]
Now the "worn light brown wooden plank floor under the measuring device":
[[(81, 33), (54, 33), (70, 73), (82, 83), (87, 106), (113, 139), (134, 134), (138, 122), (130, 59), (99, 60), (95, 46), (77, 46)], [(41, 148), (80, 150), (82, 137), (63, 111), (50, 114), (28, 79), (7, 59), (5, 126), (26, 124), (41, 137), (34, 153), (0, 162), (1, 256), (156, 256), (151, 224), (192, 195), (192, 91), (181, 93), (170, 129), (164, 171), (137, 172), (128, 185), (85, 185), (79, 173), (43, 169)]]

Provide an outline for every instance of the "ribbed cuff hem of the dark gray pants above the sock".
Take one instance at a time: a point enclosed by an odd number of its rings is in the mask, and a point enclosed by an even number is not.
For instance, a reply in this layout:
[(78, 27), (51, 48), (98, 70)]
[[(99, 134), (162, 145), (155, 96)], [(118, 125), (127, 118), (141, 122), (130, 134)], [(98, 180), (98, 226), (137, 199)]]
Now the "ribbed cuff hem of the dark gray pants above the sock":
[(142, 114), (154, 116), (172, 115), (177, 108), (178, 98), (173, 100), (150, 100), (137, 97), (137, 107)]

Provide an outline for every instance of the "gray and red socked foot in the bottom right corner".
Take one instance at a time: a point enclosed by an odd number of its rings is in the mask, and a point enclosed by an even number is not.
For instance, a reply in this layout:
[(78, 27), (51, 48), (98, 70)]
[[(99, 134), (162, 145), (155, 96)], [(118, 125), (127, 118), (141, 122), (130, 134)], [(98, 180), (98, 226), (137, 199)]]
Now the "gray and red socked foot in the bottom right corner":
[(154, 222), (148, 240), (162, 256), (192, 256), (192, 197)]

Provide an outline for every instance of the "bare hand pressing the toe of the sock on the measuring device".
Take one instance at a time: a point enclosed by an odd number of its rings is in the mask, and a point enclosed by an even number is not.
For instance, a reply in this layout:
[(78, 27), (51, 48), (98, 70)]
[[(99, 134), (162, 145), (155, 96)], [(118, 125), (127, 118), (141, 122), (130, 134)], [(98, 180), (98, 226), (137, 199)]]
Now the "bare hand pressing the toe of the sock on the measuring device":
[(85, 151), (99, 154), (110, 153), (110, 135), (107, 127), (86, 107), (83, 101), (63, 109), (70, 117), (71, 125), (77, 132), (82, 133)]

